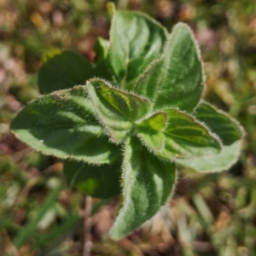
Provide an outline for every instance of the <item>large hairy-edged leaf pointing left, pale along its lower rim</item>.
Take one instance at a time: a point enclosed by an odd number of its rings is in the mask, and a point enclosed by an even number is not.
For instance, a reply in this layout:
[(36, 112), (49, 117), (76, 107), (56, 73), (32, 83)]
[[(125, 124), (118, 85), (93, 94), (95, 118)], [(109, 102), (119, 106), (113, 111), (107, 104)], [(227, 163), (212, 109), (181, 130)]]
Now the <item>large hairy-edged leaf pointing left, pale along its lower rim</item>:
[(23, 108), (12, 131), (32, 148), (62, 159), (96, 164), (115, 158), (116, 147), (94, 117), (85, 86), (42, 96)]

